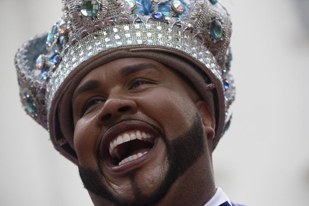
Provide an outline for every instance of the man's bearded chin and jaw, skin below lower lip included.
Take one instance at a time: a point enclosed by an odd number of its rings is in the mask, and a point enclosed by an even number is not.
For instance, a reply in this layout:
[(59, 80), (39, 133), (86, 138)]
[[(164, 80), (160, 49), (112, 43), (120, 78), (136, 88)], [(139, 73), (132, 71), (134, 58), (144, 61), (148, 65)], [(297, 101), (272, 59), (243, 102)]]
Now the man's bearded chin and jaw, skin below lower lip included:
[[(105, 183), (103, 170), (78, 166), (84, 187), (100, 197), (99, 199), (104, 198), (115, 205), (156, 204), (166, 196), (180, 175), (204, 153), (203, 132), (199, 113), (196, 112), (192, 127), (186, 133), (171, 138), (172, 141), (167, 141), (165, 135), (162, 135), (166, 153), (159, 152), (162, 156), (156, 157), (154, 162), (150, 161), (147, 166), (130, 171), (125, 175), (125, 179), (121, 176), (114, 177), (108, 184)], [(98, 168), (102, 167), (99, 165)], [(111, 180), (108, 175), (106, 179)], [(112, 188), (111, 183), (114, 184)]]

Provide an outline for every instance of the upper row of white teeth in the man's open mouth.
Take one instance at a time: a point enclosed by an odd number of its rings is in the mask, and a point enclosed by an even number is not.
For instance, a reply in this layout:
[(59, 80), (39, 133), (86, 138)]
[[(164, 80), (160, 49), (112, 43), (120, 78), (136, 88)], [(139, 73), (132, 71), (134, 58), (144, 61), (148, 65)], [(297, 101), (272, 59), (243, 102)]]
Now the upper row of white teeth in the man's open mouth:
[(154, 140), (152, 137), (154, 137), (153, 134), (141, 132), (139, 130), (118, 135), (109, 143), (109, 153), (113, 158), (114, 157), (120, 158), (120, 154), (118, 153), (118, 147), (117, 147), (118, 145), (121, 145), (124, 142), (128, 142), (135, 139), (149, 141), (153, 143)]

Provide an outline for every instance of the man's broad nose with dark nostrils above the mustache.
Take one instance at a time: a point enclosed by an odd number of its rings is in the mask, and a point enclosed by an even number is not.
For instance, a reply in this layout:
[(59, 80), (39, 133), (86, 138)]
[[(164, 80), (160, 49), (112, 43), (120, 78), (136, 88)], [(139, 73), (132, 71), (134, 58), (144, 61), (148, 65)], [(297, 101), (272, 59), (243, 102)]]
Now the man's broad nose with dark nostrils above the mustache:
[(133, 99), (108, 98), (96, 118), (99, 124), (108, 124), (121, 115), (133, 114), (136, 111), (137, 105)]

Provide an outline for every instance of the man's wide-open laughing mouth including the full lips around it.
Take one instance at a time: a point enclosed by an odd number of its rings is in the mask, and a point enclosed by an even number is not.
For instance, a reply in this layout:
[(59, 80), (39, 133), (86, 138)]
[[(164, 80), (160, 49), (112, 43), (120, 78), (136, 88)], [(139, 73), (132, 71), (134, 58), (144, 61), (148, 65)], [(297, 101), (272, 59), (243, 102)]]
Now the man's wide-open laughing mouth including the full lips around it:
[(158, 137), (159, 132), (145, 122), (121, 122), (105, 132), (100, 145), (101, 158), (112, 171), (134, 169), (152, 156), (150, 150), (153, 151)]

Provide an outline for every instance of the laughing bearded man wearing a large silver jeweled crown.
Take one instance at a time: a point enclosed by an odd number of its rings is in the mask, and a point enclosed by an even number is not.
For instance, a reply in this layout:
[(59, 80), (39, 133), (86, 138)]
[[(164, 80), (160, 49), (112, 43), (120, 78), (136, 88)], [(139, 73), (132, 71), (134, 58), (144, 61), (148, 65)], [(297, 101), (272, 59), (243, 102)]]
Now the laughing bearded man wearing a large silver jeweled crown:
[(15, 63), (25, 110), (93, 203), (235, 206), (212, 166), (235, 97), (224, 7), (64, 0), (63, 11)]

